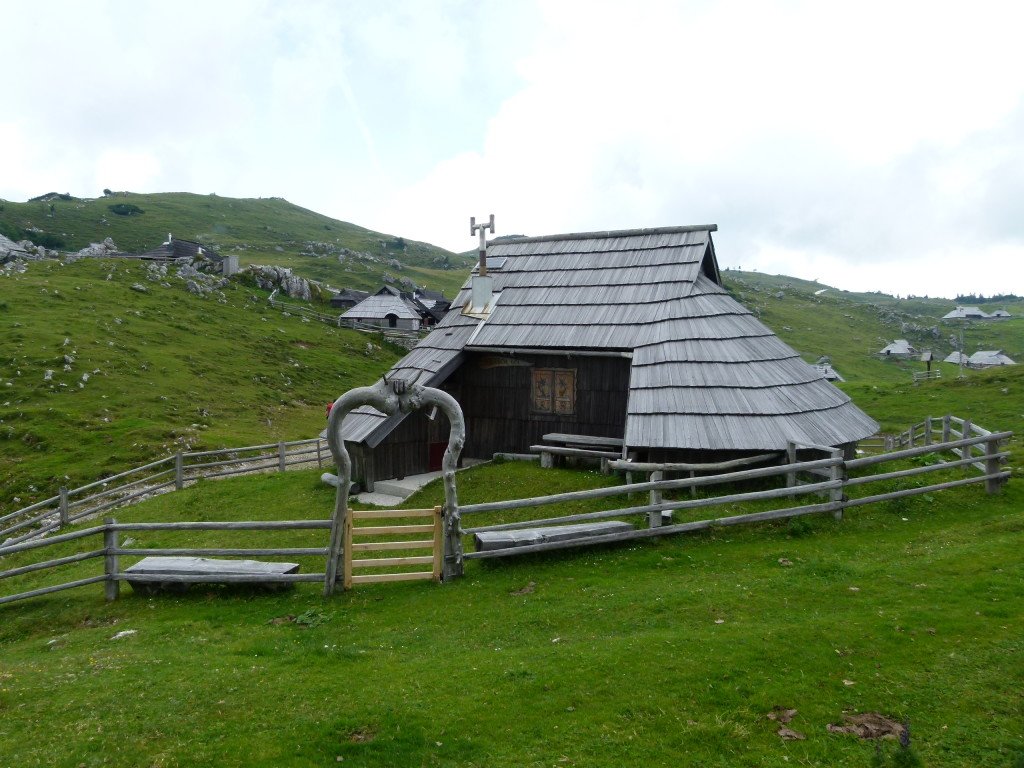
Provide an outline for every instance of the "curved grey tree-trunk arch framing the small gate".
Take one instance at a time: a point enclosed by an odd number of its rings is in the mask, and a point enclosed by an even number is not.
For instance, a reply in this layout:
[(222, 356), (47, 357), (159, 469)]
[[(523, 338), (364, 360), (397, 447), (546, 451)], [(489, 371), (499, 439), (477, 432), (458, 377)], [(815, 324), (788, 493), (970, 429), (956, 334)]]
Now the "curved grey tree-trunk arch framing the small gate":
[(345, 392), (335, 400), (328, 420), (327, 441), (338, 467), (338, 490), (335, 496), (334, 514), (331, 516), (331, 541), (328, 546), (324, 594), (334, 593), (338, 584), (339, 563), (342, 556), (344, 530), (348, 510), (348, 488), (352, 482), (352, 460), (345, 447), (341, 425), (345, 417), (359, 406), (370, 406), (385, 416), (397, 412), (413, 413), (421, 409), (440, 409), (449, 419), (451, 431), (449, 444), (441, 461), (444, 479), (443, 551), (441, 581), (462, 575), (462, 526), (459, 497), (455, 486), (455, 470), (459, 456), (466, 444), (466, 420), (458, 400), (447, 392), (419, 384), (409, 384), (399, 379), (381, 379), (371, 387), (358, 387)]

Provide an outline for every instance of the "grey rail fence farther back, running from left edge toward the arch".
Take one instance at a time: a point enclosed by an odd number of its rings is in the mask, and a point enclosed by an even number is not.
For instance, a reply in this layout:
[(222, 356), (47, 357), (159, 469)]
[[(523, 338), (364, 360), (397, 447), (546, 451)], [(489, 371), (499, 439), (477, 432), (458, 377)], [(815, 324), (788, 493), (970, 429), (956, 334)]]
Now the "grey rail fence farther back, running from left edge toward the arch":
[(331, 452), (328, 451), (327, 440), (318, 437), (219, 451), (177, 453), (81, 487), (61, 487), (56, 496), (0, 516), (0, 542), (19, 544), (143, 497), (170, 489), (180, 490), (201, 478), (284, 472), (289, 467), (312, 462), (323, 467), (325, 459), (330, 461)]

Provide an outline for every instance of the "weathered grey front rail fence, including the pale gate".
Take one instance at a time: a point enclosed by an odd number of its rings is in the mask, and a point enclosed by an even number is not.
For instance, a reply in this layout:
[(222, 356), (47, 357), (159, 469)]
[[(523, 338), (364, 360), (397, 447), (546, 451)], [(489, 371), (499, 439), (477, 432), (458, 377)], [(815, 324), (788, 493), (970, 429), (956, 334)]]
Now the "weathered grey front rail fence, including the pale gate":
[[(936, 421), (944, 429), (935, 429)], [(702, 530), (712, 527), (738, 525), (743, 523), (761, 522), (766, 520), (779, 520), (811, 514), (831, 514), (837, 519), (841, 519), (844, 511), (853, 507), (877, 504), (879, 502), (892, 501), (911, 496), (930, 494), (947, 488), (959, 487), (963, 485), (984, 483), (989, 494), (997, 493), (1001, 483), (1010, 477), (1010, 472), (1005, 470), (1002, 464), (1010, 454), (1000, 449), (1000, 443), (1013, 436), (1012, 432), (989, 432), (972, 425), (969, 421), (948, 417), (942, 420), (926, 420), (925, 425), (931, 424), (932, 429), (925, 430), (926, 434), (935, 437), (936, 434), (946, 435), (949, 439), (925, 442), (913, 447), (906, 447), (900, 451), (883, 454), (879, 456), (864, 456), (857, 459), (844, 459), (841, 452), (818, 445), (794, 444), (791, 455), (797, 461), (778, 466), (756, 467), (753, 469), (743, 468), (737, 471), (725, 471), (714, 475), (687, 476), (681, 478), (660, 478), (648, 482), (638, 482), (633, 484), (617, 485), (613, 487), (595, 488), (591, 490), (580, 490), (566, 494), (555, 494), (551, 496), (534, 499), (517, 499), (511, 501), (496, 501), (482, 504), (469, 504), (459, 506), (457, 510), (446, 510), (446, 513), (458, 513), (465, 519), (469, 515), (479, 515), (487, 512), (501, 512), (509, 510), (522, 510), (541, 507), (557, 507), (568, 502), (598, 501), (615, 496), (629, 496), (632, 494), (648, 494), (647, 503), (620, 507), (611, 510), (595, 510), (590, 512), (580, 512), (575, 514), (562, 514), (547, 517), (539, 517), (529, 520), (519, 520), (514, 522), (502, 522), (477, 527), (461, 528), (463, 536), (483, 532), (487, 530), (513, 530), (521, 528), (532, 528), (538, 526), (559, 525), (564, 523), (575, 523), (585, 520), (599, 520), (612, 517), (640, 516), (641, 520), (646, 517), (648, 527), (636, 527), (631, 530), (618, 531), (607, 535), (597, 535), (585, 539), (569, 541), (545, 542), (541, 544), (530, 544), (527, 546), (513, 547), (509, 549), (497, 549), (479, 552), (462, 553), (462, 537), (458, 540), (456, 557), (461, 562), (462, 559), (472, 560), (478, 558), (507, 557), (521, 555), (531, 552), (544, 552), (549, 550), (566, 549), (580, 546), (593, 546), (624, 541), (635, 541), (652, 537), (669, 536), (694, 530)], [(959, 427), (957, 433), (955, 427)], [(948, 427), (948, 430), (945, 429)], [(907, 440), (912, 441), (921, 432), (921, 425), (914, 425), (907, 433)], [(312, 441), (302, 441), (312, 442)], [(293, 443), (295, 444), (295, 443)], [(978, 452), (981, 452), (980, 454)], [(823, 455), (823, 458), (811, 458), (806, 461), (800, 460), (800, 454), (809, 452), (811, 454)], [(223, 452), (205, 452), (198, 455), (199, 458), (210, 458), (211, 455)], [(934, 455), (938, 463), (927, 463), (923, 465), (907, 466), (913, 464), (913, 460)], [(196, 455), (194, 455), (196, 456)], [(166, 460), (164, 460), (166, 461)], [(182, 464), (181, 462), (177, 462)], [(226, 462), (208, 463), (208, 467), (223, 467)], [(896, 465), (888, 470), (884, 465)], [(161, 462), (146, 465), (146, 470), (158, 468)], [(191, 465), (196, 466), (196, 465)], [(141, 468), (140, 468), (141, 469)], [(883, 471), (878, 471), (883, 470)], [(952, 473), (950, 473), (952, 470)], [(166, 472), (162, 470), (161, 472)], [(655, 470), (662, 471), (662, 470)], [(920, 485), (910, 485), (893, 488), (886, 486), (883, 488), (871, 488), (879, 483), (890, 483), (893, 480), (908, 480), (910, 478), (921, 478), (932, 473), (946, 473), (944, 477), (936, 478), (934, 482), (926, 482)], [(228, 471), (224, 472), (229, 473)], [(963, 476), (959, 476), (963, 473)], [(127, 474), (127, 473), (125, 473)], [(949, 475), (953, 479), (949, 479)], [(169, 477), (169, 475), (164, 475)], [(183, 477), (183, 475), (182, 475)], [(778, 487), (763, 488), (767, 481), (775, 479)], [(762, 488), (757, 490), (741, 490), (737, 483), (745, 483), (750, 480), (761, 481)], [(174, 480), (164, 479), (164, 482), (174, 482)], [(716, 486), (727, 486), (720, 496), (708, 496), (705, 498), (686, 498), (667, 500), (665, 495), (669, 492), (681, 492), (690, 488), (700, 488), (705, 492)], [(873, 493), (872, 493), (873, 490)], [(804, 503), (797, 503), (798, 497), (818, 496)], [(48, 500), (51, 501), (51, 500)], [(718, 517), (708, 517), (699, 520), (686, 522), (672, 522), (671, 515), (675, 512), (697, 510), (705, 508), (723, 508), (726, 505), (750, 503), (750, 502), (781, 502), (782, 506), (770, 510), (750, 512), (743, 514), (731, 514)], [(395, 562), (389, 562), (389, 558), (378, 558), (369, 563), (352, 561), (351, 556), (356, 551), (370, 549), (399, 549), (407, 545), (416, 544), (417, 547), (431, 545), (433, 554), (430, 556), (433, 569), (429, 571), (430, 578), (436, 578), (438, 572), (438, 539), (440, 538), (438, 520), (441, 515), (440, 510), (390, 510), (386, 512), (359, 512), (349, 515), (353, 519), (372, 519), (376, 517), (410, 517), (417, 513), (434, 516), (431, 524), (412, 526), (388, 526), (377, 528), (374, 526), (364, 527), (365, 534), (388, 535), (388, 534), (422, 534), (431, 532), (433, 535), (430, 542), (417, 541), (409, 542), (385, 542), (374, 544), (352, 544), (349, 531), (345, 544), (345, 558), (348, 564), (343, 577), (348, 584), (357, 581), (396, 581), (398, 579), (427, 578), (428, 572), (417, 572), (408, 574), (385, 574), (385, 578), (373, 577), (358, 578), (351, 575), (351, 567), (355, 565), (384, 566), (384, 565), (416, 565), (426, 564), (426, 556), (419, 558), (393, 558)], [(81, 516), (80, 514), (78, 516)], [(69, 519), (71, 516), (69, 515)], [(642, 522), (641, 522), (642, 524)], [(78, 579), (65, 584), (46, 586), (39, 589), (11, 594), (0, 597), (0, 604), (15, 600), (23, 600), (30, 597), (45, 595), (62, 590), (75, 589), (91, 584), (104, 584), (104, 593), (109, 599), (118, 596), (120, 582), (128, 581), (178, 581), (178, 582), (207, 582), (207, 577), (177, 577), (168, 579), (166, 575), (154, 574), (145, 577), (135, 573), (127, 573), (120, 567), (120, 558), (123, 556), (150, 556), (150, 555), (178, 555), (178, 556), (314, 556), (324, 557), (326, 563), (325, 572), (313, 573), (291, 573), (291, 574), (259, 574), (259, 575), (238, 575), (233, 578), (221, 577), (216, 581), (230, 582), (318, 582), (326, 584), (327, 573), (331, 572), (331, 561), (333, 555), (327, 542), (324, 547), (266, 547), (266, 548), (132, 548), (120, 544), (120, 534), (124, 531), (140, 530), (296, 530), (296, 529), (324, 529), (330, 530), (331, 520), (276, 520), (276, 521), (237, 521), (237, 522), (164, 522), (147, 523), (132, 522), (118, 523), (114, 519), (108, 519), (102, 525), (97, 525), (82, 530), (68, 534), (58, 534), (51, 537), (37, 539), (35, 541), (8, 542), (0, 546), (0, 558), (29, 550), (44, 549), (48, 547), (61, 546), (70, 542), (86, 541), (90, 539), (101, 540), (97, 544), (85, 551), (68, 554), (67, 551), (59, 553), (59, 556), (52, 557), (42, 562), (20, 565), (7, 570), (0, 571), (0, 581), (14, 578), (26, 573), (43, 569), (56, 568), (72, 563), (79, 563), (89, 559), (102, 558), (103, 571), (101, 573)], [(406, 530), (401, 530), (406, 528)], [(401, 545), (399, 547), (399, 545)], [(415, 562), (414, 562), (415, 560)], [(402, 562), (398, 562), (402, 561)]]

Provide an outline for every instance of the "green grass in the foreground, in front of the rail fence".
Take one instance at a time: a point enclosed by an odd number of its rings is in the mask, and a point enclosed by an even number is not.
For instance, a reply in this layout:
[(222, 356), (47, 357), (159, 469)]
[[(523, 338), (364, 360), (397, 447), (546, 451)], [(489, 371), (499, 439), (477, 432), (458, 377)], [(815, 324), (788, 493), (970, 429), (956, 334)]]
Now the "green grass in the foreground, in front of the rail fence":
[[(200, 483), (118, 518), (323, 518), (315, 474)], [(595, 476), (460, 480), (470, 503)], [(873, 746), (825, 725), (878, 711), (910, 721), (926, 765), (1008, 766), (1024, 750), (1022, 501), (971, 487), (330, 600), (126, 588), (108, 605), (91, 587), (5, 606), (0, 762), (865, 766)], [(773, 707), (799, 711), (806, 740), (775, 734)]]

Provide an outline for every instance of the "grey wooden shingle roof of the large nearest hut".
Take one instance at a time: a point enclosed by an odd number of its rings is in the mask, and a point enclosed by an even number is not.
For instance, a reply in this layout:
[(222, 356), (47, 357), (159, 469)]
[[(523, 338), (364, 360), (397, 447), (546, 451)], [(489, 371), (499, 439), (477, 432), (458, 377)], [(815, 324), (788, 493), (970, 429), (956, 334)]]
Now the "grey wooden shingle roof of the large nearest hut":
[[(494, 242), (497, 303), (485, 319), (452, 310), (391, 376), (436, 385), (465, 351), (632, 355), (626, 444), (778, 450), (836, 445), (878, 425), (720, 285), (714, 225), (584, 232)], [(346, 439), (386, 434), (370, 410)]]

